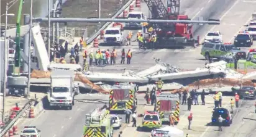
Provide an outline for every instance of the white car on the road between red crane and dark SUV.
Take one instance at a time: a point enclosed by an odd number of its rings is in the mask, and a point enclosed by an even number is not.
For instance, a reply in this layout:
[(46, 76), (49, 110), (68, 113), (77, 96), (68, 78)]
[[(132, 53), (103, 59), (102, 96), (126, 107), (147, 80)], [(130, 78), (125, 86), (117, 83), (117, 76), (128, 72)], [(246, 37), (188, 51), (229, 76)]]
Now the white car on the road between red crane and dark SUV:
[(222, 43), (222, 35), (220, 31), (209, 31), (205, 37), (204, 42)]

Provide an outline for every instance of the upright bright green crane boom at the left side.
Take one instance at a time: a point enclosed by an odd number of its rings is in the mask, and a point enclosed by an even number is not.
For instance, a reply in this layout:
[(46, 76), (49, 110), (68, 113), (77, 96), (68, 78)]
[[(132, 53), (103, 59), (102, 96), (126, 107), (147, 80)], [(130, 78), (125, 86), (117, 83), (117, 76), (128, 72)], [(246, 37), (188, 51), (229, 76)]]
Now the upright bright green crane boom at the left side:
[(21, 67), (21, 15), (22, 15), (22, 6), (24, 0), (19, 1), (19, 10), (17, 14), (17, 22), (16, 22), (16, 52), (14, 57), (14, 75), (20, 75), (20, 67)]

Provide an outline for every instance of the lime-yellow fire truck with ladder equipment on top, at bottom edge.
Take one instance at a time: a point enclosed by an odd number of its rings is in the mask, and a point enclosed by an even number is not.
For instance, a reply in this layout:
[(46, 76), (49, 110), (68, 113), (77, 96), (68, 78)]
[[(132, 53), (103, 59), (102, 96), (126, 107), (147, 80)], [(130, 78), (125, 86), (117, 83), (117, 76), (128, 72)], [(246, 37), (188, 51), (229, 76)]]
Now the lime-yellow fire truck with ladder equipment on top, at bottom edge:
[(91, 114), (85, 115), (85, 125), (83, 136), (99, 137), (113, 136), (111, 115), (107, 109), (94, 109)]

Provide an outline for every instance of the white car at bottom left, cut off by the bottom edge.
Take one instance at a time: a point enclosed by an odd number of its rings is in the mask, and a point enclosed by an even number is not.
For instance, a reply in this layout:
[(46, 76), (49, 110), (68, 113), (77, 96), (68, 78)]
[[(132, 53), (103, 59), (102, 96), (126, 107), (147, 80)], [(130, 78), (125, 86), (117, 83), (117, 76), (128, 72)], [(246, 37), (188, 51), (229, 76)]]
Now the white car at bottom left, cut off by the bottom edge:
[(40, 130), (35, 126), (26, 126), (21, 131), (21, 137), (41, 137)]

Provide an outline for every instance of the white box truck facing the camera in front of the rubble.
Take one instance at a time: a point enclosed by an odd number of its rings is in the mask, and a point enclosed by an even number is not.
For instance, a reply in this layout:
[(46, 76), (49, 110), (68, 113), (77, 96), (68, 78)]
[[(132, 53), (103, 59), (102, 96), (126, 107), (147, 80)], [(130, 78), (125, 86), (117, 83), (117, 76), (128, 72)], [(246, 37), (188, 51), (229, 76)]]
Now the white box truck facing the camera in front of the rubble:
[(78, 86), (74, 85), (74, 77), (73, 70), (52, 71), (50, 76), (51, 86), (47, 95), (50, 109), (53, 109), (53, 107), (72, 109), (75, 104), (75, 95), (79, 93)]

